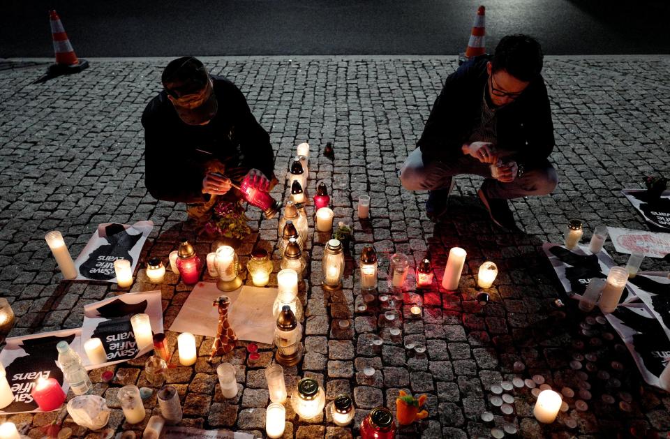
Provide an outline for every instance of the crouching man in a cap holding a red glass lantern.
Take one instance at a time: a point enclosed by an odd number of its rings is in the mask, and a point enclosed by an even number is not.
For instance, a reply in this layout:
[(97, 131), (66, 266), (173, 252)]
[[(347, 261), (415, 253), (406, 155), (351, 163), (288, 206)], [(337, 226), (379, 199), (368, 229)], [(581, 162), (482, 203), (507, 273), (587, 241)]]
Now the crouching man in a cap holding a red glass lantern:
[(161, 80), (142, 114), (149, 193), (185, 202), (189, 217), (207, 221), (216, 198), (241, 198), (232, 184), (268, 191), (274, 152), (241, 91), (194, 57), (170, 61)]

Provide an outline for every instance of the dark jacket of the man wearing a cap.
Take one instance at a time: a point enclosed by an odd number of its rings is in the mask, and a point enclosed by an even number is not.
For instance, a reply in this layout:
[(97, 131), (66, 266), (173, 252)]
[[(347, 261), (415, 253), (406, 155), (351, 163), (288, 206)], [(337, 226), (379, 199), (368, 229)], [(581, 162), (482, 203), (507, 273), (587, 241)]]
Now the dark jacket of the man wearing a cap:
[(202, 194), (202, 179), (205, 163), (213, 159), (228, 168), (256, 168), (268, 179), (274, 175), (269, 135), (251, 114), (244, 95), (229, 80), (211, 78), (218, 111), (207, 125), (181, 121), (165, 90), (144, 109), (144, 179), (147, 190), (158, 200), (191, 203), (209, 199)]

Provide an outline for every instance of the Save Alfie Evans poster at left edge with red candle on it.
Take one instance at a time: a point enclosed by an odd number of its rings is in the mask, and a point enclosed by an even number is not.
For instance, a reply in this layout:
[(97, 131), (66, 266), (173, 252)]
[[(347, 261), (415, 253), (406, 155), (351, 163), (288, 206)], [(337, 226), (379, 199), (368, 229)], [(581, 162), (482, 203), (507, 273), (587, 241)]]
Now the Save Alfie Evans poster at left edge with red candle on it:
[(54, 378), (67, 394), (70, 385), (64, 380), (57, 364), (59, 341), (67, 341), (82, 359), (86, 358), (82, 348), (82, 329), (43, 332), (21, 337), (7, 338), (0, 352), (0, 362), (5, 367), (7, 382), (14, 394), (14, 401), (0, 413), (40, 412), (31, 392), (40, 378)]

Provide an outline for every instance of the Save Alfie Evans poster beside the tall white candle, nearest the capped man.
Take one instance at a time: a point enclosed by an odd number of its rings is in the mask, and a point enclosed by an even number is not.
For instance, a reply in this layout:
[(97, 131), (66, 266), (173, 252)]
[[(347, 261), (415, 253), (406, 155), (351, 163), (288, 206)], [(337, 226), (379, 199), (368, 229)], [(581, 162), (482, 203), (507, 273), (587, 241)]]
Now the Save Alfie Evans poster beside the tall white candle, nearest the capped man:
[(98, 225), (98, 230), (75, 260), (77, 280), (116, 282), (114, 261), (117, 259), (130, 261), (134, 273), (144, 241), (153, 228), (151, 221), (138, 221), (133, 225)]

